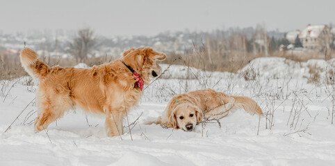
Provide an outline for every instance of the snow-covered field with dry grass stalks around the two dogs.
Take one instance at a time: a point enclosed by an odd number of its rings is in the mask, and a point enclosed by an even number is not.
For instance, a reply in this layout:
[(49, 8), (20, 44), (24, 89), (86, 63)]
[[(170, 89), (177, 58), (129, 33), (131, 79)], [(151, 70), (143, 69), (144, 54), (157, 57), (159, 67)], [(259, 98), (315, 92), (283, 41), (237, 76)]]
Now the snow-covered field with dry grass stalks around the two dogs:
[[(318, 83), (307, 83), (311, 66), (320, 68)], [(36, 86), (27, 85), (29, 77), (2, 80), (0, 165), (335, 165), (334, 84), (326, 81), (334, 68), (335, 59), (277, 57), (254, 59), (238, 74), (170, 66), (114, 138), (106, 137), (104, 118), (80, 110), (34, 133)], [(160, 116), (173, 95), (206, 88), (250, 96), (266, 116), (239, 110), (195, 132), (143, 124)]]

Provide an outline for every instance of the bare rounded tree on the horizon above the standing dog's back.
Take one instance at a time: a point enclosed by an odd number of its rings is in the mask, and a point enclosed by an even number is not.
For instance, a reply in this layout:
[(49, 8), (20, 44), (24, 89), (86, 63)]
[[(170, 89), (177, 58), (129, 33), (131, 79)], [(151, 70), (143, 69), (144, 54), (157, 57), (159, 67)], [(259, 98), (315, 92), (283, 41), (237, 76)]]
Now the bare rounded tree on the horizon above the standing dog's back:
[(77, 62), (83, 62), (87, 59), (88, 54), (97, 44), (95, 34), (90, 28), (78, 30), (78, 34), (74, 37), (71, 47), (71, 53)]

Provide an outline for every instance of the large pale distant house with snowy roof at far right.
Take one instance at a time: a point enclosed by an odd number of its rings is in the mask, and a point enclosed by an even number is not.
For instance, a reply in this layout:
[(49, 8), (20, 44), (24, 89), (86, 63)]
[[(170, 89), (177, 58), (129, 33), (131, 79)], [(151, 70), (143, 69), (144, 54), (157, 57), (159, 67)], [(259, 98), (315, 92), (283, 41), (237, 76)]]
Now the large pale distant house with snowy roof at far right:
[(332, 33), (327, 25), (308, 25), (299, 34), (300, 42), (306, 50), (325, 50), (332, 44)]

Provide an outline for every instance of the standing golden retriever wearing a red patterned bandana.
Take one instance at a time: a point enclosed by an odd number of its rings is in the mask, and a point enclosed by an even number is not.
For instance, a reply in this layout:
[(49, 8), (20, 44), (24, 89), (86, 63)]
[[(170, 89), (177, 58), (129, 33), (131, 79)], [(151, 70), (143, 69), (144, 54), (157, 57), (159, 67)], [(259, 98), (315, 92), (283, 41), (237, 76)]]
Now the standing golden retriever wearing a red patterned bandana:
[(36, 132), (46, 129), (65, 111), (80, 107), (106, 116), (107, 135), (118, 136), (123, 133), (126, 111), (140, 99), (143, 84), (161, 72), (156, 60), (166, 56), (152, 48), (131, 48), (122, 59), (92, 68), (49, 67), (29, 48), (24, 48), (20, 57), (24, 69), (40, 82)]

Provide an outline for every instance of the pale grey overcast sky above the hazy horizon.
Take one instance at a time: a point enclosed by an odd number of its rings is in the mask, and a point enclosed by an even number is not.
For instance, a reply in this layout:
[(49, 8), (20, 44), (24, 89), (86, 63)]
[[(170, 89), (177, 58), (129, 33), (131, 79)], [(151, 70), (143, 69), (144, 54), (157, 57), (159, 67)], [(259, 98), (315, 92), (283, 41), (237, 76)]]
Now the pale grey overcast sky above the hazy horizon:
[(335, 24), (335, 0), (84, 1), (0, 2), (3, 33), (31, 29), (77, 30), (99, 35), (156, 35), (165, 30), (213, 30), (265, 24), (267, 30)]

